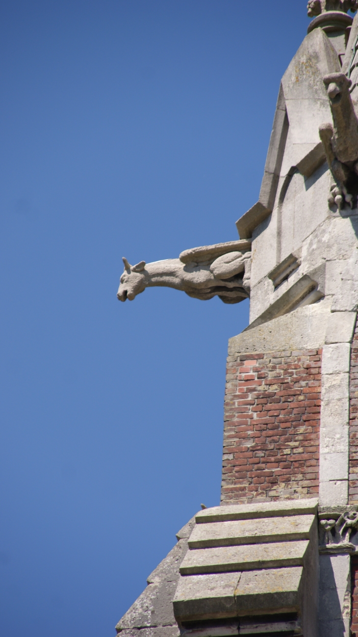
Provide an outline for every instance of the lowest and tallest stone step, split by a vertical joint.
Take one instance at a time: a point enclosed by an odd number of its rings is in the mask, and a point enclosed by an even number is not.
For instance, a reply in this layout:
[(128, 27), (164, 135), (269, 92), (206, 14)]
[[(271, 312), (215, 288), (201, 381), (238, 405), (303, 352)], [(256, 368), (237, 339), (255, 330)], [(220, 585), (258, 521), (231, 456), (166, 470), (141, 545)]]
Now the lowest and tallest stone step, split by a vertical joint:
[(302, 567), (180, 576), (173, 600), (177, 620), (215, 619), (299, 610)]

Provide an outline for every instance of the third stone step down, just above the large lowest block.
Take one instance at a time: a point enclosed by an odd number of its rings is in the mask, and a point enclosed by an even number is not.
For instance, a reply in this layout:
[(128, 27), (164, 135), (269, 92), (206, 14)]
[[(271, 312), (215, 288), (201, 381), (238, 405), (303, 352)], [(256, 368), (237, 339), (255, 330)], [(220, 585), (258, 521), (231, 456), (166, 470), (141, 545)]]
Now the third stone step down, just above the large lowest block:
[(187, 551), (180, 566), (180, 573), (195, 575), (280, 566), (303, 566), (308, 545), (308, 540), (301, 540), (192, 549)]

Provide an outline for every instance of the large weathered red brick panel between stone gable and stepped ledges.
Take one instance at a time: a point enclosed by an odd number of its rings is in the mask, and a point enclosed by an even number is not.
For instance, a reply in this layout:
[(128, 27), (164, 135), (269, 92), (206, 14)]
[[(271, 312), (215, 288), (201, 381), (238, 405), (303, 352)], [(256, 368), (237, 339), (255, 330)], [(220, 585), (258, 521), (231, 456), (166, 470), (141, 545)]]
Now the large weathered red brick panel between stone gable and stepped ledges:
[(222, 504), (317, 497), (322, 350), (227, 359)]

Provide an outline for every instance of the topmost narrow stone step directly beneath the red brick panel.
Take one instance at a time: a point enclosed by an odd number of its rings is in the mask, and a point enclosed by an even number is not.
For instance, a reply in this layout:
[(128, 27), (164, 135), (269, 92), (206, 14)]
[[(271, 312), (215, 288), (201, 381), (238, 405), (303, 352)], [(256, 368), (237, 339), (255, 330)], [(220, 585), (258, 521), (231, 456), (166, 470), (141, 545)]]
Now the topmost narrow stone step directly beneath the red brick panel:
[(281, 502), (261, 502), (250, 505), (213, 506), (196, 514), (197, 524), (205, 522), (226, 522), (228, 520), (251, 520), (266, 517), (282, 517), (317, 513), (318, 500), (286, 500)]

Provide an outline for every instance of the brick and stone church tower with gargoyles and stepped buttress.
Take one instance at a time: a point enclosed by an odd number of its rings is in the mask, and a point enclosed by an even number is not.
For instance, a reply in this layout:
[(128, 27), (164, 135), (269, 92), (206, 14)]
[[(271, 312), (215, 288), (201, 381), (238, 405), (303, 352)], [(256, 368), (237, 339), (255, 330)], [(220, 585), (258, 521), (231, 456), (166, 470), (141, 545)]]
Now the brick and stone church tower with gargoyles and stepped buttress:
[(250, 297), (229, 340), (220, 506), (198, 512), (121, 637), (358, 636), (358, 15), (310, 0), (257, 203), (228, 243), (124, 259), (118, 299)]

